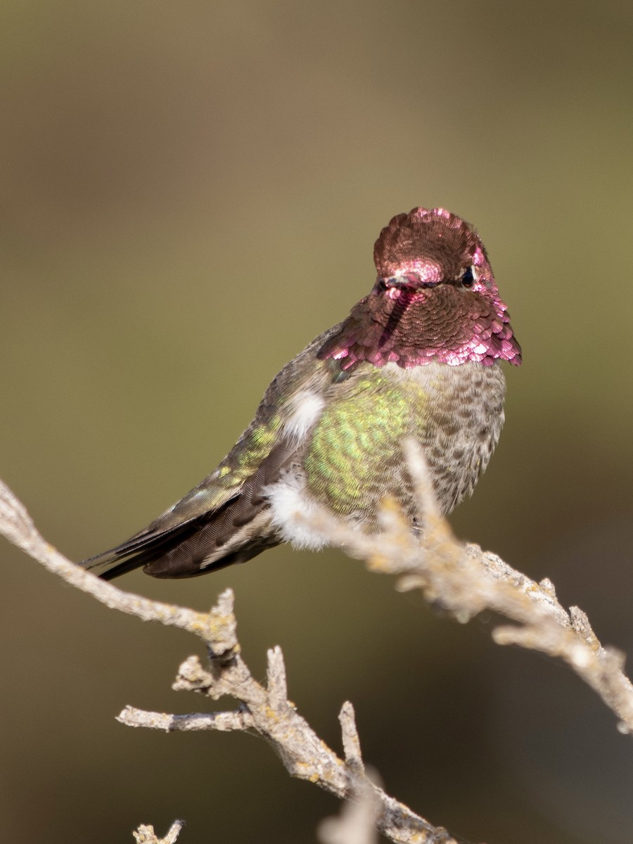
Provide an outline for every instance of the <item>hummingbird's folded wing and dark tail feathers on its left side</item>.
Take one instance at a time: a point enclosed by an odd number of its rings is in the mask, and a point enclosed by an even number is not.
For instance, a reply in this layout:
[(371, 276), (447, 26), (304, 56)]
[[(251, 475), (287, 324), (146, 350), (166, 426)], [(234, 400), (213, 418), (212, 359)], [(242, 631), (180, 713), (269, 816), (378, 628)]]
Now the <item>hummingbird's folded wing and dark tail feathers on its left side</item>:
[(314, 354), (327, 334), (273, 380), (252, 424), (213, 473), (127, 542), (82, 565), (105, 580), (140, 566), (158, 577), (191, 577), (279, 544), (263, 490), (300, 460), (303, 445), (284, 427), (296, 393), (307, 385), (318, 394), (336, 380), (333, 361), (316, 362)]

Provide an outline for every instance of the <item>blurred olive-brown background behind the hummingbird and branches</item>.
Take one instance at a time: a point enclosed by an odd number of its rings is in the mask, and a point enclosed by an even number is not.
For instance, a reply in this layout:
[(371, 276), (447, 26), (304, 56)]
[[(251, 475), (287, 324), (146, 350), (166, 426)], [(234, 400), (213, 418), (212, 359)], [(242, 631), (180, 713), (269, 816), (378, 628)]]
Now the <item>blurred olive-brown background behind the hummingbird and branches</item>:
[[(214, 467), (272, 376), (371, 288), (392, 214), (478, 226), (524, 349), (506, 430), (452, 524), (551, 577), (633, 651), (633, 11), (561, 3), (5, 0), (0, 476), (72, 559)], [(12, 844), (315, 841), (337, 802), (197, 711), (197, 644), (3, 543), (0, 826)], [(122, 587), (206, 609), (247, 662), (432, 822), (488, 844), (630, 844), (633, 745), (559, 664), (460, 626), (336, 551)], [(199, 652), (199, 649), (198, 649)], [(231, 706), (231, 701), (226, 701)]]

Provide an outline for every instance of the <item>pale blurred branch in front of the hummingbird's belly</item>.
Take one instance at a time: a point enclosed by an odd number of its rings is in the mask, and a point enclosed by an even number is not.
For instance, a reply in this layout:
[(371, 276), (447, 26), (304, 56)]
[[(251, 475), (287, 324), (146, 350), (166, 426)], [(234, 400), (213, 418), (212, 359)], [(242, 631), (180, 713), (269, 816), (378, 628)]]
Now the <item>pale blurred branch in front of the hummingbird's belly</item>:
[[(633, 684), (622, 668), (625, 657), (603, 647), (587, 615), (558, 602), (549, 579), (537, 583), (479, 545), (457, 542), (437, 506), (424, 456), (416, 443), (407, 446), (408, 466), (420, 498), (422, 537), (412, 533), (398, 508), (386, 503), (382, 532), (360, 533), (326, 510), (311, 511), (311, 529), (367, 560), (371, 571), (399, 576), (398, 588), (421, 589), (458, 621), (466, 622), (484, 609), (504, 615), (514, 625), (492, 630), (500, 645), (520, 645), (558, 657), (567, 663), (619, 717), (622, 733), (633, 732)], [(297, 522), (305, 517), (297, 511)]]

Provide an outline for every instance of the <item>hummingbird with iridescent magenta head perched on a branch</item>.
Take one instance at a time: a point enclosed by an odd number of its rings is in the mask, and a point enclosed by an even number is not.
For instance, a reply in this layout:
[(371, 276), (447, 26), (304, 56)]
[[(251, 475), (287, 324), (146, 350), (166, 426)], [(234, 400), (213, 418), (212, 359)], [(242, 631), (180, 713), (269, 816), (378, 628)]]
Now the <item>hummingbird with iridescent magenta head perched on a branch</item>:
[(472, 493), (504, 422), (500, 362), (521, 363), (484, 244), (444, 208), (414, 208), (381, 230), (374, 262), (370, 294), (284, 366), (219, 466), (82, 565), (106, 580), (140, 566), (190, 577), (282, 542), (320, 549), (317, 506), (376, 533), (392, 499), (415, 530), (408, 438), (424, 452), (443, 513)]

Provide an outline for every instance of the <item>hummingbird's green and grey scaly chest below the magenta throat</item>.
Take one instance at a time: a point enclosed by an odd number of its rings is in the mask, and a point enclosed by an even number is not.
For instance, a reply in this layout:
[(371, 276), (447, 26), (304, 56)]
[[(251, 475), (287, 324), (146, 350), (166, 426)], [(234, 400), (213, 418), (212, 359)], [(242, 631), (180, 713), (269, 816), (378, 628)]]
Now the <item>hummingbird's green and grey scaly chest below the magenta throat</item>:
[(387, 364), (340, 386), (306, 438), (302, 463), (314, 498), (361, 521), (373, 520), (386, 497), (413, 512), (403, 460), (408, 437), (424, 448), (443, 510), (472, 490), (503, 421), (499, 367)]

